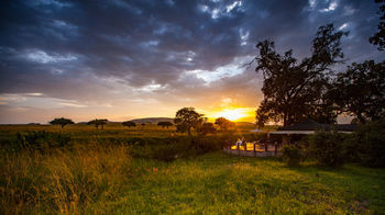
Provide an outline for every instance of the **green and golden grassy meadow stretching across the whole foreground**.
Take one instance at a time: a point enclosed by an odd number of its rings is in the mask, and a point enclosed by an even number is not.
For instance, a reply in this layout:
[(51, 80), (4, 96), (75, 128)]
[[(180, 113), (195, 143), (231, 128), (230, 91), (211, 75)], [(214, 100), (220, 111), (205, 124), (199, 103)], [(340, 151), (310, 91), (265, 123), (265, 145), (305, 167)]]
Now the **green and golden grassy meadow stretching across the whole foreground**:
[[(231, 135), (245, 136), (250, 128), (240, 124)], [(10, 147), (20, 142), (18, 133), (36, 131), (64, 134), (70, 140), (59, 147)], [(206, 138), (218, 144), (227, 135)], [(289, 168), (278, 158), (230, 156), (210, 147), (195, 150), (187, 147), (189, 138), (173, 127), (127, 128), (111, 123), (103, 131), (87, 125), (62, 131), (58, 126), (4, 125), (0, 143), (1, 214), (385, 212), (385, 169), (354, 163), (324, 169), (309, 161)], [(187, 151), (182, 155), (182, 150)], [(174, 157), (164, 159), (157, 152)]]

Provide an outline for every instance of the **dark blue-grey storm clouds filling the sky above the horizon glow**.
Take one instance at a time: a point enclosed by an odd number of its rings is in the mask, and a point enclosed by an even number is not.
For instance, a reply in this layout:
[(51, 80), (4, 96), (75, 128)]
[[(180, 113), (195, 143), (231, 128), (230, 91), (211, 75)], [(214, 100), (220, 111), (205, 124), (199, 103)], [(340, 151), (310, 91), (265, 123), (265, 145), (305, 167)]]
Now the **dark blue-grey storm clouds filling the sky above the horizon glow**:
[(367, 43), (378, 7), (366, 0), (14, 0), (0, 10), (0, 93), (99, 101), (119, 90), (145, 98), (154, 88), (177, 100), (230, 92), (239, 81), (254, 92), (261, 81), (250, 71), (215, 81), (186, 71), (234, 65), (265, 38), (304, 57), (318, 26), (330, 22), (351, 32), (343, 41), (350, 60), (381, 57)]

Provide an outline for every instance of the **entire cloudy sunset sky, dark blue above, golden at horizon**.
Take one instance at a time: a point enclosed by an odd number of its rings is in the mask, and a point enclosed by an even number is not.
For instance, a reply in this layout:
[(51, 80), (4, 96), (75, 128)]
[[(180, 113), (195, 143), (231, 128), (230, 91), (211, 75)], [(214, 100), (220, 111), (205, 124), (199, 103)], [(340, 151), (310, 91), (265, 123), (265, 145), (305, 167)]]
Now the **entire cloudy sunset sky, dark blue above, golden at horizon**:
[(255, 44), (310, 54), (333, 23), (345, 68), (383, 58), (369, 43), (374, 0), (9, 0), (0, 7), (0, 124), (173, 117), (194, 106), (209, 117), (254, 122), (263, 77), (242, 67)]

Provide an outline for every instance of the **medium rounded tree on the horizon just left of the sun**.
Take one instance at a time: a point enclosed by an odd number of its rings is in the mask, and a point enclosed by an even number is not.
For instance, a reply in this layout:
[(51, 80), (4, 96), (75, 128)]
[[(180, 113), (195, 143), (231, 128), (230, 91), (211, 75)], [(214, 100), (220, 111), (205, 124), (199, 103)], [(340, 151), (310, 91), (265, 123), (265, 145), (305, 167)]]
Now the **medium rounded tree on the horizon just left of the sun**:
[(174, 118), (177, 132), (187, 132), (188, 136), (191, 136), (191, 128), (197, 129), (204, 122), (204, 114), (197, 113), (194, 108), (180, 109)]

